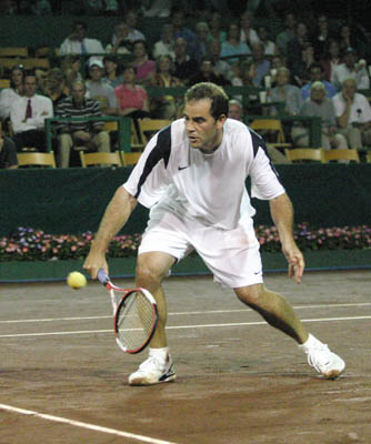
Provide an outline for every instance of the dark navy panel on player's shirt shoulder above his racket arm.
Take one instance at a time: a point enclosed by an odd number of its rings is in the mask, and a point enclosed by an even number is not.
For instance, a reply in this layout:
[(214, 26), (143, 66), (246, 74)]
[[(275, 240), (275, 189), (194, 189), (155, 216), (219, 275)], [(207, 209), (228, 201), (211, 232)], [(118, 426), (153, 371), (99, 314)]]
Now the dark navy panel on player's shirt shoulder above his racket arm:
[(156, 147), (150, 152), (149, 157), (147, 158), (142, 174), (138, 182), (138, 190), (134, 195), (138, 199), (140, 194), (140, 190), (142, 184), (146, 182), (147, 178), (153, 170), (153, 168), (163, 159), (164, 168), (168, 167), (169, 158), (171, 152), (171, 125), (163, 128), (157, 137)]

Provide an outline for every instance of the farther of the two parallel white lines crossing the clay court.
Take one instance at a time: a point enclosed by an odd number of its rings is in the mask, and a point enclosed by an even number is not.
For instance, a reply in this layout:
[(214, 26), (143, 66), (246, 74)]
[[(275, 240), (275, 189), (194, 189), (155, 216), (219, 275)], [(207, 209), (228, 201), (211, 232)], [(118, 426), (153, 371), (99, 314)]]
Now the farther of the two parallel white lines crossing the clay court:
[[(315, 304), (315, 305), (293, 305), (294, 310), (308, 310), (308, 309), (338, 309), (348, 306), (369, 306), (371, 302), (361, 302), (354, 304)], [(198, 312), (174, 312), (168, 313), (169, 316), (184, 316), (192, 314), (223, 314), (223, 313), (241, 313), (252, 312), (251, 309), (235, 309), (235, 310), (210, 310), (210, 311), (198, 311)], [(17, 323), (31, 323), (31, 322), (58, 322), (58, 321), (93, 321), (101, 319), (112, 319), (112, 315), (104, 316), (80, 316), (80, 317), (44, 317), (44, 319), (31, 319), (31, 320), (10, 320), (1, 321), (0, 324), (17, 324)]]

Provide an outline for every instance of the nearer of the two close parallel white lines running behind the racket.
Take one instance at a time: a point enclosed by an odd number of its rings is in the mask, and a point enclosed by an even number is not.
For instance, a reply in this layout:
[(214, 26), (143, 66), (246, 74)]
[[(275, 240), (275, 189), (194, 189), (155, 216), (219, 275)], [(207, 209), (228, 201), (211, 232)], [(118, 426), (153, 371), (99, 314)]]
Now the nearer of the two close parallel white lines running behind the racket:
[[(332, 322), (332, 321), (360, 321), (371, 320), (371, 316), (349, 316), (349, 317), (318, 317), (301, 320), (301, 322)], [(268, 325), (265, 321), (257, 322), (232, 322), (224, 324), (202, 324), (202, 325), (172, 325), (167, 326), (167, 330), (186, 330), (186, 329), (214, 329), (223, 326), (249, 326), (249, 325)], [(136, 329), (133, 329), (136, 330)], [(72, 332), (49, 332), (49, 333), (17, 333), (17, 334), (1, 334), (0, 339), (4, 337), (31, 337), (31, 336), (63, 336), (73, 334), (97, 334), (97, 333), (112, 333), (112, 330), (81, 330)]]

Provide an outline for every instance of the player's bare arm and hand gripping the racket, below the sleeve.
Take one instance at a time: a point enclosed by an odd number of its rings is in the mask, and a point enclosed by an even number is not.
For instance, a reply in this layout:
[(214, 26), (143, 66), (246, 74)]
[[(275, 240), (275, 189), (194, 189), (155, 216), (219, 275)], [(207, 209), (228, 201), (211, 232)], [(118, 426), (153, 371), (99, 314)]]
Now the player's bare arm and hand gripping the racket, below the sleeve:
[(97, 279), (97, 273), (100, 268), (103, 268), (108, 273), (106, 250), (113, 236), (126, 224), (136, 205), (137, 199), (128, 193), (123, 186), (120, 186), (116, 191), (111, 202), (106, 209), (98, 233), (91, 243), (90, 252), (83, 264), (83, 269), (89, 272), (91, 278)]

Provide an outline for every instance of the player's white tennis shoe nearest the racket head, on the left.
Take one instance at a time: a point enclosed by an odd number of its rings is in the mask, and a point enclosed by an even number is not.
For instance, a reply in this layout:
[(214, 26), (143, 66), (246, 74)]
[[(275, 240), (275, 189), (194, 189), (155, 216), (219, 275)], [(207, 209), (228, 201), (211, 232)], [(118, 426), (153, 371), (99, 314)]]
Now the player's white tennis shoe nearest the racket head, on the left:
[(170, 354), (166, 360), (160, 356), (149, 355), (140, 364), (137, 372), (129, 376), (130, 385), (152, 385), (170, 382), (177, 377)]

